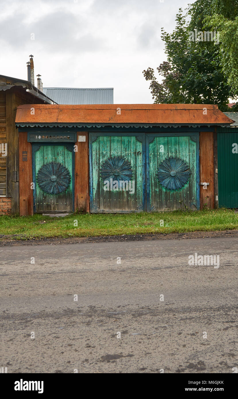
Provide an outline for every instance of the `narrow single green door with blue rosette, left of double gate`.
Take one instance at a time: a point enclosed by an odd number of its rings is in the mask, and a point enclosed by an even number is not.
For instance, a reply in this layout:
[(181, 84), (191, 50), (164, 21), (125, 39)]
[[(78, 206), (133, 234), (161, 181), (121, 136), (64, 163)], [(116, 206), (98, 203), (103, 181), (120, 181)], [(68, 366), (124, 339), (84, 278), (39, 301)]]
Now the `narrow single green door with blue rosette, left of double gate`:
[(73, 143), (32, 144), (34, 212), (73, 211)]

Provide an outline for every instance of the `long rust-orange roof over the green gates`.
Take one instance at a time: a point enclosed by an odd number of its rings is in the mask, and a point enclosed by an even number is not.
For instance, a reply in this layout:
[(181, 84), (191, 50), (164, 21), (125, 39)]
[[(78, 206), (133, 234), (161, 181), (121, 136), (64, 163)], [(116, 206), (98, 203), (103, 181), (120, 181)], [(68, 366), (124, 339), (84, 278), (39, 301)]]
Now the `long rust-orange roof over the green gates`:
[(230, 125), (232, 122), (217, 105), (205, 104), (27, 104), (20, 105), (16, 113), (18, 125), (42, 123)]

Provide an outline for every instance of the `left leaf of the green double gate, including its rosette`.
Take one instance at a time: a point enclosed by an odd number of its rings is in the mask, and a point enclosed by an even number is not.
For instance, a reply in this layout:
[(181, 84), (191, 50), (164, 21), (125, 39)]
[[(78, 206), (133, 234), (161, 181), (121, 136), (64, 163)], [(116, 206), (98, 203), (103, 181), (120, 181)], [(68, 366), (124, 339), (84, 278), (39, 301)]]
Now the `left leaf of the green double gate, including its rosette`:
[(90, 211), (145, 209), (145, 134), (90, 134)]

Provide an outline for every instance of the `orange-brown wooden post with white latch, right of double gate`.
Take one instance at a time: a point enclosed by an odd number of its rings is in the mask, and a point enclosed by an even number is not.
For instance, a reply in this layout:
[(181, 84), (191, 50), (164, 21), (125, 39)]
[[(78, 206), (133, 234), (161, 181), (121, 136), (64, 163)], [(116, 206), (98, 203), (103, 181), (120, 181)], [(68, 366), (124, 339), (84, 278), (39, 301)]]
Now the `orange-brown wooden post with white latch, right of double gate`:
[(213, 132), (200, 132), (200, 183), (209, 183), (206, 189), (200, 186), (200, 209), (214, 209), (214, 138)]

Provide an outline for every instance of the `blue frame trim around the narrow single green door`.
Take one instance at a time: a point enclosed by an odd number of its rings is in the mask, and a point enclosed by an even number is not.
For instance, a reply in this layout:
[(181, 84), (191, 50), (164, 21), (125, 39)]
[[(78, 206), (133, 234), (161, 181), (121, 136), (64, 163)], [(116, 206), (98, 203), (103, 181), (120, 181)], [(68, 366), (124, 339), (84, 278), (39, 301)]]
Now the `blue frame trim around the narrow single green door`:
[[(35, 152), (36, 149), (41, 146), (65, 146), (65, 142), (48, 142), (48, 143), (32, 143), (32, 180), (36, 188), (36, 161)], [(72, 146), (72, 212), (74, 212), (74, 182), (75, 182), (75, 153), (73, 152), (74, 143), (67, 142), (67, 145)], [(36, 213), (36, 190), (33, 190), (33, 213)], [(47, 212), (47, 211), (46, 211)]]

